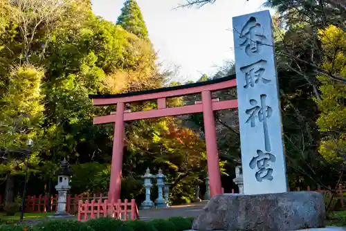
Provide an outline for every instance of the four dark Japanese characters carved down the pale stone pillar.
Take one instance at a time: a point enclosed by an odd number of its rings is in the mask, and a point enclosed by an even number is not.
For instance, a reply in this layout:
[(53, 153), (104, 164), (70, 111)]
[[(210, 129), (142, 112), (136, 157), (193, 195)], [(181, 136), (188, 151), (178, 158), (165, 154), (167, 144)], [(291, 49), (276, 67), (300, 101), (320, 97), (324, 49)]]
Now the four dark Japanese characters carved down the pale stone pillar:
[[(241, 33), (239, 33), (239, 39), (241, 39), (240, 46), (244, 46), (245, 53), (248, 56), (260, 55), (262, 46), (266, 37), (264, 36), (264, 29), (261, 24), (257, 22), (255, 17), (250, 17)], [(260, 59), (257, 62), (253, 62), (247, 66), (242, 66), (240, 71), (244, 74), (245, 84), (244, 89), (251, 89), (258, 86), (259, 83), (268, 84), (271, 80), (266, 77), (266, 63), (265, 59)], [(263, 137), (265, 150), (257, 150), (256, 156), (254, 156), (251, 162), (248, 164), (251, 169), (255, 169), (255, 178), (258, 182), (273, 181), (273, 171), (271, 163), (275, 163), (275, 156), (270, 153), (271, 141), (268, 134), (268, 120), (273, 114), (273, 109), (266, 103), (266, 94), (260, 95), (260, 102), (255, 99), (250, 99), (249, 104), (251, 105), (246, 109), (248, 118), (246, 124), (251, 127), (263, 126)]]

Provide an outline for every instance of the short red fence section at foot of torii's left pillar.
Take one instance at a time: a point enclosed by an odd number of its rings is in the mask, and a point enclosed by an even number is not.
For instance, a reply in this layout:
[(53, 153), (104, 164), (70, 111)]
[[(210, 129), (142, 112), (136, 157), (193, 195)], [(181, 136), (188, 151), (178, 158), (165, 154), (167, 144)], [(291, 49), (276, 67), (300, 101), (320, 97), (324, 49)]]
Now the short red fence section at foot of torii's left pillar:
[(138, 219), (138, 207), (134, 199), (128, 203), (127, 199), (124, 203), (121, 200), (117, 202), (99, 199), (96, 203), (95, 200), (79, 201), (78, 203), (78, 221), (88, 221), (89, 219), (98, 219), (101, 217), (111, 217), (127, 221), (127, 219)]

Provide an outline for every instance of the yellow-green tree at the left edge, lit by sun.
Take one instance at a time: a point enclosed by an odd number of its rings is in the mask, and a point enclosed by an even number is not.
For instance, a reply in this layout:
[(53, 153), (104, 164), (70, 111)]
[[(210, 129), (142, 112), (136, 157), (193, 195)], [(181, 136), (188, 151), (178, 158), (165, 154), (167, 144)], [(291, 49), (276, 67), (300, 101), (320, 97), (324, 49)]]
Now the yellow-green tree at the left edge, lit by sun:
[[(0, 100), (0, 174), (6, 175), (5, 201), (13, 201), (14, 176), (21, 173), (26, 159), (26, 141), (42, 138), (44, 106), (41, 80), (44, 73), (28, 64), (13, 68), (6, 93)], [(39, 161), (37, 152), (30, 163)]]

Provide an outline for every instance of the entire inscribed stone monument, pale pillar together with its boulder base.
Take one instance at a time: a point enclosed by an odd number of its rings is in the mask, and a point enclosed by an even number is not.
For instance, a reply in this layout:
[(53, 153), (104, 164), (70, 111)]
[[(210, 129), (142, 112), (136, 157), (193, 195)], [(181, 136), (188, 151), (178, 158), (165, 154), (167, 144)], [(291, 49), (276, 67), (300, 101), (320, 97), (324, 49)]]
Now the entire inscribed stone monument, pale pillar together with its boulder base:
[(281, 108), (269, 10), (233, 18), (244, 194), (210, 199), (194, 230), (321, 228), (318, 192), (287, 192)]

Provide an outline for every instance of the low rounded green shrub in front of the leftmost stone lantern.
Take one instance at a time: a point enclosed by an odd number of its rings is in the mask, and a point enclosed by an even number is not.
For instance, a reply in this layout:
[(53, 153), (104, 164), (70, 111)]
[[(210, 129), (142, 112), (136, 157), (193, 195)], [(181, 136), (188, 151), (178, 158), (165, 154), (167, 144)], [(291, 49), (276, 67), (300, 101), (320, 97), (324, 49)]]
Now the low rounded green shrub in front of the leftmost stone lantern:
[[(30, 229), (31, 230), (31, 229)], [(38, 223), (33, 227), (33, 230), (44, 231), (95, 231), (89, 225), (84, 222), (71, 221), (65, 219), (51, 220), (42, 223)]]

